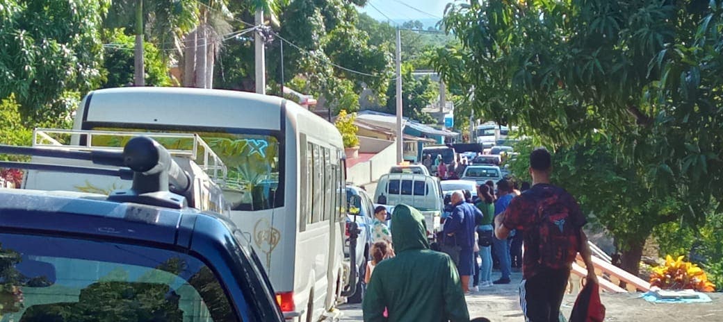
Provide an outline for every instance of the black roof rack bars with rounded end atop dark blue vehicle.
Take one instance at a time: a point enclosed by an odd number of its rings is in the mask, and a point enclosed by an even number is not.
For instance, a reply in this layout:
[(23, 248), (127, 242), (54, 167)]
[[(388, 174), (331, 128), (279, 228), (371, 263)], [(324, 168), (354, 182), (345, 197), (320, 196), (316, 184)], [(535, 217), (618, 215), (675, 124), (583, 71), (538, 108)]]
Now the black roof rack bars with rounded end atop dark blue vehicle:
[(189, 174), (179, 167), (166, 148), (146, 136), (137, 136), (130, 139), (122, 152), (64, 151), (40, 147), (0, 145), (0, 154), (71, 158), (91, 161), (98, 165), (125, 167), (119, 170), (109, 170), (32, 162), (0, 162), (0, 167), (25, 170), (116, 175), (121, 178), (132, 176), (132, 188), (124, 191), (114, 191), (108, 196), (110, 201), (134, 202), (182, 209), (187, 206), (184, 195), (192, 188), (192, 180)]

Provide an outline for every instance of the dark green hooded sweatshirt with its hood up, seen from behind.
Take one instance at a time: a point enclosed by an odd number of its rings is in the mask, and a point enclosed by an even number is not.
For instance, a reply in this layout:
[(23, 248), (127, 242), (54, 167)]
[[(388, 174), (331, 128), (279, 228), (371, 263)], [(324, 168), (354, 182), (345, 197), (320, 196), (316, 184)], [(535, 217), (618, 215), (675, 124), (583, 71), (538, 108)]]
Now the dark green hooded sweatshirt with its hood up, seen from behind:
[(447, 254), (429, 250), (422, 213), (399, 204), (392, 227), (396, 256), (372, 272), (362, 304), (364, 321), (469, 322), (457, 268)]

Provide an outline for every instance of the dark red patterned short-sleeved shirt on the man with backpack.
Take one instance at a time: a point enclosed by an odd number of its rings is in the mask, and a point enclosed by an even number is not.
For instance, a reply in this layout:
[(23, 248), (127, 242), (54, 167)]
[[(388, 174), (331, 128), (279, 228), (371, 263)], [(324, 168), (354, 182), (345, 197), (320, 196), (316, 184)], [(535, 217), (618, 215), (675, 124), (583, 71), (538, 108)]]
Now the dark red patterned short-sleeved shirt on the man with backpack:
[[(565, 189), (552, 186), (550, 184), (538, 183), (528, 191), (523, 192), (520, 196), (515, 197), (508, 208), (505, 210), (505, 219), (502, 221), (509, 230), (520, 230), (523, 232), (525, 253), (522, 258), (522, 273), (524, 279), (529, 279), (536, 275), (542, 268), (540, 253), (546, 249), (542, 245), (541, 239), (548, 240), (546, 229), (542, 229), (542, 212), (540, 209), (563, 209), (567, 214), (565, 221), (569, 221), (575, 232), (587, 223), (587, 220), (580, 211), (580, 206), (575, 198), (565, 191)], [(541, 238), (542, 237), (542, 238)], [(567, 250), (568, 254), (562, 257), (569, 258), (579, 251), (580, 236), (577, 233), (571, 233), (567, 237), (570, 245), (574, 245)], [(571, 263), (560, 263), (560, 267), (569, 267)]]

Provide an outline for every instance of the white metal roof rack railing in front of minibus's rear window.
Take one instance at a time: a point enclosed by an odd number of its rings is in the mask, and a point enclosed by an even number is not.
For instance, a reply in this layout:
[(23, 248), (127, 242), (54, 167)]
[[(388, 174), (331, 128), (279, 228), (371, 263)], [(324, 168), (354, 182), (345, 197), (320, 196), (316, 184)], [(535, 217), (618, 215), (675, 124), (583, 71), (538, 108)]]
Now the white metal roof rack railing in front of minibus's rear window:
[[(35, 129), (33, 131), (33, 147), (78, 152), (121, 152), (124, 149), (124, 147), (121, 147), (121, 144), (123, 142), (129, 142), (130, 139), (137, 136), (145, 136), (153, 139), (165, 147), (171, 156), (193, 160), (215, 183), (223, 185), (226, 181), (226, 175), (228, 174), (226, 165), (223, 164), (221, 157), (218, 157), (197, 134)], [(98, 139), (102, 137), (108, 139)], [(85, 142), (85, 144), (74, 144), (74, 142)]]

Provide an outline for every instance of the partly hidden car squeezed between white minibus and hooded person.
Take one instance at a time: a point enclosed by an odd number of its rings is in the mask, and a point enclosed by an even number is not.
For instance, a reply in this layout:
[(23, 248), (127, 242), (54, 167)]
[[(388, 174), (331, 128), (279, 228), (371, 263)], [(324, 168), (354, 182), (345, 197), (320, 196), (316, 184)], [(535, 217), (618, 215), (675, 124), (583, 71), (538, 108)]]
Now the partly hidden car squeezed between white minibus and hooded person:
[(359, 187), (346, 186), (346, 203), (348, 212), (346, 212), (346, 240), (344, 242), (344, 256), (349, 257), (349, 228), (352, 222), (356, 222), (359, 229), (359, 237), (356, 238), (356, 281), (350, 281), (350, 284), (356, 284), (356, 292), (354, 295), (347, 297), (348, 303), (361, 303), (364, 299), (364, 274), (367, 273), (367, 261), (369, 261), (369, 249), (372, 247), (372, 222), (374, 221), (375, 205), (366, 191)]

